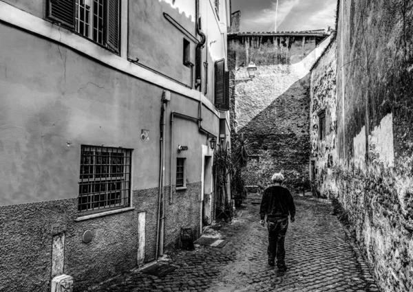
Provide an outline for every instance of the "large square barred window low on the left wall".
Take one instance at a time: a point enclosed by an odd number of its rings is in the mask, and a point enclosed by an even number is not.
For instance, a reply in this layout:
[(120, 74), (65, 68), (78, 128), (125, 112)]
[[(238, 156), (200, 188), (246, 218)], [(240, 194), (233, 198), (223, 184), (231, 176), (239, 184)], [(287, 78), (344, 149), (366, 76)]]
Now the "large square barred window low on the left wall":
[(78, 211), (130, 205), (131, 150), (81, 146)]

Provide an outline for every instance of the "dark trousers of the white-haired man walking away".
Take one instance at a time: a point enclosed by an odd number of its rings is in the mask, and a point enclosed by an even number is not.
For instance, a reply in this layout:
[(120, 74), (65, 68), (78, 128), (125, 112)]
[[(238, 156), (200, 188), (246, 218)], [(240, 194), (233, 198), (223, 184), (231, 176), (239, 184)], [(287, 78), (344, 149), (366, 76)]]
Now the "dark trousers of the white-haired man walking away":
[(275, 260), (277, 256), (277, 267), (286, 265), (286, 250), (284, 241), (288, 227), (288, 218), (268, 218), (268, 260)]

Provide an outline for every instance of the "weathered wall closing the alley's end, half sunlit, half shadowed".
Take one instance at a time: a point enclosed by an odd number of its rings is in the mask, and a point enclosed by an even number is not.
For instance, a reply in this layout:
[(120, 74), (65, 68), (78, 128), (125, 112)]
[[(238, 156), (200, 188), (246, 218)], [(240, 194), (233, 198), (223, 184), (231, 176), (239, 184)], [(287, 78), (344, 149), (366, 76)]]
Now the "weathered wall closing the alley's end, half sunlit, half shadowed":
[(259, 157), (244, 173), (247, 185), (266, 187), (280, 170), (291, 188), (302, 188), (302, 180), (308, 178), (308, 73), (325, 46), (316, 48), (314, 36), (230, 38), (231, 78), (248, 78), (248, 63), (257, 65), (255, 78), (235, 81), (231, 91), (232, 130), (244, 133), (251, 154)]

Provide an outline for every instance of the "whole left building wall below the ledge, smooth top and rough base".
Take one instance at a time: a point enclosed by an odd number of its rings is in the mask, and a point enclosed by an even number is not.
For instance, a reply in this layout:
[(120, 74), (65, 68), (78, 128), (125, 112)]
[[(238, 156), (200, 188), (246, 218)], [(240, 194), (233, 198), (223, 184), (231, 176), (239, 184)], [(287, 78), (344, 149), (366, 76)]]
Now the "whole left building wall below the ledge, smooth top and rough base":
[[(153, 260), (163, 89), (4, 23), (0, 38), (0, 290), (47, 291), (52, 238), (61, 232), (64, 272), (74, 277), (76, 291), (131, 269), (137, 258), (138, 212), (147, 212), (145, 260)], [(171, 111), (196, 117), (198, 101), (171, 93), (167, 185)], [(206, 106), (202, 123), (218, 135), (220, 119)], [(141, 129), (149, 130), (149, 141), (140, 139)], [(135, 210), (75, 221), (82, 144), (134, 149)], [(178, 144), (189, 146), (179, 154), (187, 158), (188, 189), (167, 208), (167, 249), (178, 243), (180, 227), (190, 226), (199, 236), (201, 146), (207, 136), (196, 122), (176, 118), (173, 173)], [(185, 212), (176, 215), (176, 210)], [(87, 229), (94, 239), (85, 244), (81, 236)]]

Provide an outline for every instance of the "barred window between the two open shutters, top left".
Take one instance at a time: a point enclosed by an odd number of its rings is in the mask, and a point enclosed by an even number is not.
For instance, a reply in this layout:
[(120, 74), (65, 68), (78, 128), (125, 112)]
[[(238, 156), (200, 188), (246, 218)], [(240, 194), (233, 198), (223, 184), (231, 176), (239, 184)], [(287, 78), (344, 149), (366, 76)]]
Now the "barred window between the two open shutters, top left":
[(76, 0), (76, 32), (100, 45), (105, 42), (105, 3), (105, 0)]

